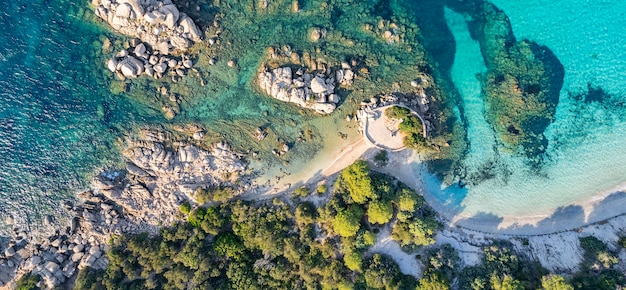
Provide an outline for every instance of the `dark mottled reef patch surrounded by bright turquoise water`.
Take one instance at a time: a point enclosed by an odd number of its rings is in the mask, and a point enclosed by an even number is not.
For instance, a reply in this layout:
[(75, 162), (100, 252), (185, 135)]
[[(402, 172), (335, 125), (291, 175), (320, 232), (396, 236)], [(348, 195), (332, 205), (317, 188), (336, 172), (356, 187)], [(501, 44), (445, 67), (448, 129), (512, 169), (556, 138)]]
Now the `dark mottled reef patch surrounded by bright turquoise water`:
[(504, 12), (484, 1), (446, 1), (469, 17), (487, 66), (483, 90), (487, 121), (503, 145), (540, 167), (547, 147), (543, 132), (554, 121), (563, 86), (563, 65), (534, 41), (517, 41)]

